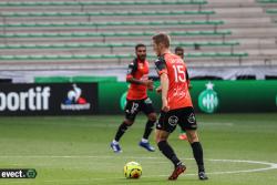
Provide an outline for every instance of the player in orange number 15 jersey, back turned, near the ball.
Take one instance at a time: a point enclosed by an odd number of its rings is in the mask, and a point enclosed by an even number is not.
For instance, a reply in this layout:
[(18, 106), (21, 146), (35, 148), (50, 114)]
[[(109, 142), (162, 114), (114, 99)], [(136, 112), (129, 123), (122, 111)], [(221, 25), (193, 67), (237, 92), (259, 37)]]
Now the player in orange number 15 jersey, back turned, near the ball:
[(186, 65), (179, 56), (171, 53), (167, 34), (156, 34), (152, 40), (153, 49), (158, 56), (155, 65), (161, 78), (160, 90), (162, 93), (162, 111), (156, 124), (155, 141), (163, 155), (174, 164), (174, 171), (168, 179), (177, 179), (178, 175), (186, 169), (186, 166), (179, 161), (167, 142), (170, 134), (176, 129), (177, 124), (186, 131), (187, 140), (198, 166), (198, 178), (208, 179), (205, 174), (203, 148), (197, 136), (197, 124), (188, 92)]

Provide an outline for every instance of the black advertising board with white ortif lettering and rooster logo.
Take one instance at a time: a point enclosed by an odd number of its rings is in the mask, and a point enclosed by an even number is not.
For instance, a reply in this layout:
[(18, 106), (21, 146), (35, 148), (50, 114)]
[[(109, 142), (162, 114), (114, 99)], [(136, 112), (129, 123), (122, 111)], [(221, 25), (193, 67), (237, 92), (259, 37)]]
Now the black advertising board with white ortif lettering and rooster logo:
[(96, 83), (0, 84), (0, 115), (74, 115), (96, 111)]

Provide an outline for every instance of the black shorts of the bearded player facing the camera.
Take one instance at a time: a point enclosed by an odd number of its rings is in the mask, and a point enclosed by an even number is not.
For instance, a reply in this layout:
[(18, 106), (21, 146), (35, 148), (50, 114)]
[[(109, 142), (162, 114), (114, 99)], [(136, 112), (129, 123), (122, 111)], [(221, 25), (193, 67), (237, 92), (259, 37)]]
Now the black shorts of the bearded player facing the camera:
[(127, 100), (124, 111), (125, 117), (131, 121), (135, 120), (135, 116), (140, 111), (146, 115), (155, 112), (150, 97), (143, 100)]

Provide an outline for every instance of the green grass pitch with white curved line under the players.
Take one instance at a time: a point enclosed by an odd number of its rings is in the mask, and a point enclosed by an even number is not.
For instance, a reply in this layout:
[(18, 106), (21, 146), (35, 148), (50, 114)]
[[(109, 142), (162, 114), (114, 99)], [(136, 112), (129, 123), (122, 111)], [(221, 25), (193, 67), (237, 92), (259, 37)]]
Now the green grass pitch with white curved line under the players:
[[(35, 168), (37, 178), (0, 178), (0, 185), (276, 185), (277, 114), (198, 114), (198, 133), (209, 179), (201, 182), (187, 142), (178, 129), (170, 143), (187, 165), (168, 182), (172, 164), (158, 150), (141, 148), (145, 116), (122, 137), (123, 153), (110, 142), (123, 115), (0, 117), (0, 168)], [(151, 143), (154, 144), (154, 135)], [(140, 179), (125, 179), (126, 162), (141, 163)]]

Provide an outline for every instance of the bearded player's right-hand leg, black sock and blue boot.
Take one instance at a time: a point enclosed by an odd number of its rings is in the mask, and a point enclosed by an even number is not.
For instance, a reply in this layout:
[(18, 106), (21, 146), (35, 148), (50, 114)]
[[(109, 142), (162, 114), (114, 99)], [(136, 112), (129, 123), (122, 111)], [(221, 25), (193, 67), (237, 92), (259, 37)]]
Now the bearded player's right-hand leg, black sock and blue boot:
[(141, 142), (138, 143), (138, 145), (146, 148), (150, 152), (154, 152), (155, 148), (150, 145), (148, 137), (154, 129), (157, 116), (156, 116), (156, 113), (154, 112), (154, 107), (150, 99), (146, 99), (145, 101), (142, 102), (141, 110), (146, 114), (147, 122), (145, 124), (143, 137)]

